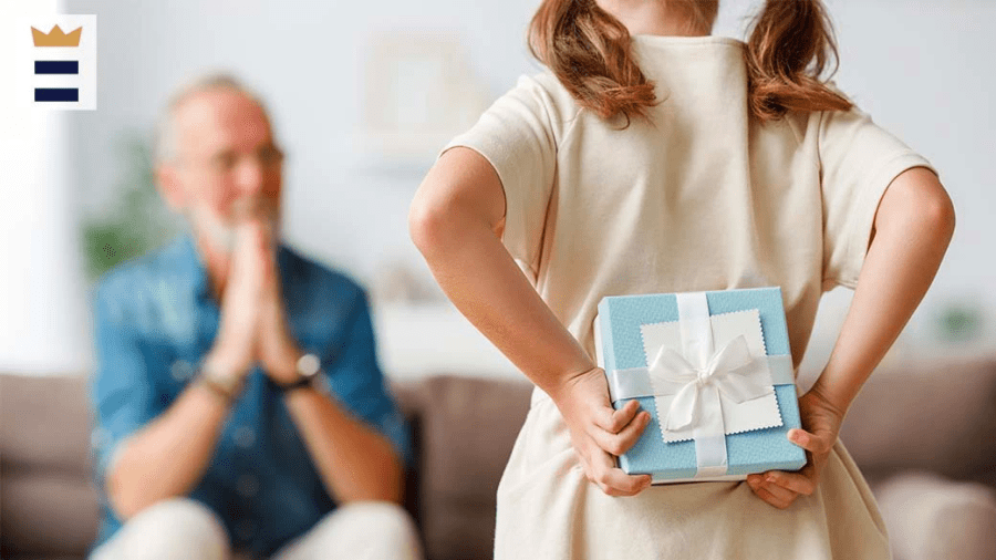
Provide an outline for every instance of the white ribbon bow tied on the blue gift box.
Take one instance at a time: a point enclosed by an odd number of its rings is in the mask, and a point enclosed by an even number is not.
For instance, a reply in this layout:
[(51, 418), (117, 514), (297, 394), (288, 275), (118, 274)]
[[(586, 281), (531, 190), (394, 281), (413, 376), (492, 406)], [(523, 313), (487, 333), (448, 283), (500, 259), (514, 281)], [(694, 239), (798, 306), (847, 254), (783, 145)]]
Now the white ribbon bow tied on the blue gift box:
[(750, 378), (758, 369), (757, 360), (750, 356), (747, 339), (739, 335), (713, 354), (705, 367), (695, 367), (670, 348), (662, 348), (649, 367), (652, 383), (664, 394), (674, 394), (665, 431), (678, 431), (698, 423), (701, 393), (708, 386), (736, 403), (743, 403), (770, 394), (774, 388)]

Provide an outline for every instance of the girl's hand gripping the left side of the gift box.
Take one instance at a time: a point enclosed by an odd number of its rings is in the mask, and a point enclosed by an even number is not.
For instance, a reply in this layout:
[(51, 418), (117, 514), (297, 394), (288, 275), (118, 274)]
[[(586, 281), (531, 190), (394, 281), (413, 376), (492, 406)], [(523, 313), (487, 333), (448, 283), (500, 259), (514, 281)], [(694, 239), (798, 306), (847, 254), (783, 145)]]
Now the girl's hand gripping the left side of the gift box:
[(612, 408), (601, 367), (564, 381), (550, 396), (563, 415), (589, 480), (609, 496), (635, 496), (650, 486), (650, 475), (626, 475), (615, 466), (614, 457), (636, 443), (650, 422), (650, 413), (641, 412), (636, 401), (619, 411)]

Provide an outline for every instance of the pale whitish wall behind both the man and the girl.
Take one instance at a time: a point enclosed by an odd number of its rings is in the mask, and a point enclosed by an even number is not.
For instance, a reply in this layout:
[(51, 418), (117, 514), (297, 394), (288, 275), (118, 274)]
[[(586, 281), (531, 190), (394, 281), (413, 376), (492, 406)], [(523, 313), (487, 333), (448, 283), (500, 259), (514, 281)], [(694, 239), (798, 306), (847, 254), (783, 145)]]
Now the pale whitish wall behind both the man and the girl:
[[(66, 11), (97, 13), (101, 25), (100, 110), (69, 116), (75, 203), (91, 211), (108, 203), (121, 174), (115, 138), (122, 131), (147, 132), (168, 92), (191, 73), (229, 68), (270, 100), (290, 153), (289, 238), (362, 281), (392, 260), (427, 279), (405, 216), (430, 162), (390, 172), (363, 163), (355, 132), (363, 79), (376, 71), (366, 68), (364, 50), (372, 38), (395, 31), (455, 37), (496, 97), (517, 75), (537, 68), (523, 38), (537, 3), (66, 0)], [(986, 25), (996, 21), (996, 2), (828, 4), (841, 45), (838, 84), (941, 170), (958, 210), (954, 243), (909, 332), (927, 333), (950, 300), (969, 297), (989, 310), (992, 332), (996, 262), (986, 255), (996, 238), (996, 220), (988, 219), (996, 197), (990, 179), (996, 65), (987, 54)], [(757, 6), (727, 0), (716, 33), (743, 37), (744, 17)], [(815, 363), (829, 352), (848, 301), (841, 292), (827, 300), (812, 345)]]

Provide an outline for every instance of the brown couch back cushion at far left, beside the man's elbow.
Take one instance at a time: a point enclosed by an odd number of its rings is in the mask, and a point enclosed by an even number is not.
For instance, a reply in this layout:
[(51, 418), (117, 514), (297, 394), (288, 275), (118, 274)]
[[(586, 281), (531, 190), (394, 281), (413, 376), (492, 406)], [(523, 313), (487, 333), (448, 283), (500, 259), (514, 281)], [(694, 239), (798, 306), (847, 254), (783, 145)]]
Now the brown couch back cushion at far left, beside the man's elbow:
[(0, 460), (87, 475), (91, 412), (86, 377), (0, 374)]

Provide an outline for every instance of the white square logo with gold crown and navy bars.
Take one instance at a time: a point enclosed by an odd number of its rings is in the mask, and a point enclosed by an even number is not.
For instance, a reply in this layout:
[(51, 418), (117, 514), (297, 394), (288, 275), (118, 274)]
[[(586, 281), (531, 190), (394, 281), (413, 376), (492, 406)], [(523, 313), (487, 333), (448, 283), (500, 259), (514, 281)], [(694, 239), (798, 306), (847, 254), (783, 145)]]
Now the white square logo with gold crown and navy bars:
[(40, 108), (96, 108), (96, 15), (24, 19), (18, 28), (19, 91)]

